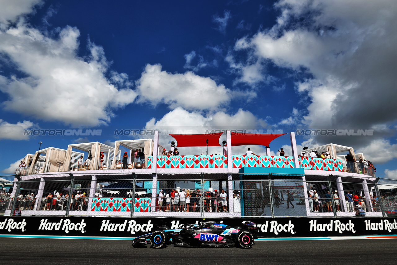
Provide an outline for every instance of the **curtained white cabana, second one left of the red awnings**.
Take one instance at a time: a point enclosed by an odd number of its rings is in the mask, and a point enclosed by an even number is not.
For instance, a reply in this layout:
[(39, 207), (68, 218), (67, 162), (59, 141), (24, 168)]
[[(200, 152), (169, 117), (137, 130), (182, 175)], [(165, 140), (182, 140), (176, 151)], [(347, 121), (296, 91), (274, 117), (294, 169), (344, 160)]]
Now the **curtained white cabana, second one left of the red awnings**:
[[(100, 152), (104, 153), (104, 162), (106, 162), (106, 166), (104, 166), (105, 169), (110, 168), (110, 159), (113, 159), (113, 157), (115, 157), (114, 147), (105, 145), (104, 143), (91, 142), (71, 144), (67, 146), (67, 154), (65, 158), (65, 161), (67, 162), (65, 162), (64, 164), (63, 171), (71, 171), (73, 170), (73, 168), (77, 168), (77, 160), (80, 158), (80, 156), (83, 156), (84, 159), (88, 158), (88, 155), (84, 157), (83, 153), (79, 153), (81, 155), (74, 157), (72, 149), (87, 152), (93, 157), (93, 159), (91, 160), (91, 167), (89, 168), (91, 170), (98, 169), (98, 167), (100, 166)], [(116, 152), (116, 157), (120, 157), (120, 151)]]

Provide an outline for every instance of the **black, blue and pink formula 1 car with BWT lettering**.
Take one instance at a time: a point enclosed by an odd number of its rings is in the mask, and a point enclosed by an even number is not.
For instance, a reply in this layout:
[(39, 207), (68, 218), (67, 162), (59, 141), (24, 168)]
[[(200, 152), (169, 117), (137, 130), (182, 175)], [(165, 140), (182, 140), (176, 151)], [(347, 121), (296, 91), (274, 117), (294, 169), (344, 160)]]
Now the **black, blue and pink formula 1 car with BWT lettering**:
[(150, 244), (162, 248), (168, 244), (181, 247), (231, 247), (251, 248), (258, 227), (250, 221), (242, 222), (235, 228), (213, 221), (199, 224), (182, 224), (178, 229), (161, 226), (158, 230), (132, 240), (134, 248)]

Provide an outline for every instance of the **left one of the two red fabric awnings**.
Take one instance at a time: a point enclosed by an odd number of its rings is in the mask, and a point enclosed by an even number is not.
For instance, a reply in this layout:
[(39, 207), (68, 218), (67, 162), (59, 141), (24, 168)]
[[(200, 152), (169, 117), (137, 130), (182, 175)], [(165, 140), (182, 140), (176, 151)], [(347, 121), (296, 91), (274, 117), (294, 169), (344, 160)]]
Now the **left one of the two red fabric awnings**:
[(177, 147), (190, 146), (207, 146), (206, 139), (208, 139), (208, 146), (222, 146), (219, 144), (219, 138), (223, 132), (220, 133), (206, 133), (206, 134), (170, 134), (177, 141)]

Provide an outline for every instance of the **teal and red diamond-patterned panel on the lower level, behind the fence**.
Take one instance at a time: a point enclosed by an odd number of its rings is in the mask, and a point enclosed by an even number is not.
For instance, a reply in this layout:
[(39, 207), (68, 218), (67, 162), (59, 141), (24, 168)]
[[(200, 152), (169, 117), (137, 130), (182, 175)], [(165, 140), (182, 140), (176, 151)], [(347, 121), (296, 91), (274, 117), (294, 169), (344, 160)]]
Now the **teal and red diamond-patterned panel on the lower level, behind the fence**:
[[(151, 198), (135, 198), (135, 212), (149, 212)], [(91, 211), (129, 212), (131, 198), (93, 198)]]

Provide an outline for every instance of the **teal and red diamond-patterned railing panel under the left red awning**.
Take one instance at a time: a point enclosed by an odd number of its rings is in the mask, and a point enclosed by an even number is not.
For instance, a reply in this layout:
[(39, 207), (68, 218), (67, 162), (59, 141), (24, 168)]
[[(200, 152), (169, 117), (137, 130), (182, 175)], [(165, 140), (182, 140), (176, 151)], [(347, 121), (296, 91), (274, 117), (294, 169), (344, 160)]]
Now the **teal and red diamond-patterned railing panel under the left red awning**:
[(157, 168), (227, 168), (224, 155), (176, 155), (157, 157)]

